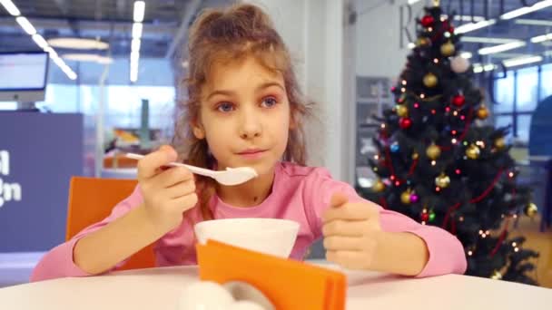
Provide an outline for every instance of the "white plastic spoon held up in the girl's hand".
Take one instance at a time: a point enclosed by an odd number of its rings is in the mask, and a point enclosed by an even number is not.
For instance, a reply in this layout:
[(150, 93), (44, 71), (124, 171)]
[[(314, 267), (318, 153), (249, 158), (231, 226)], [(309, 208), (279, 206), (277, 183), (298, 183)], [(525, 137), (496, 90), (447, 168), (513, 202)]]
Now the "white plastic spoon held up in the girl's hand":
[[(143, 155), (126, 153), (126, 157), (129, 159), (141, 160)], [(195, 174), (210, 177), (215, 179), (217, 182), (228, 186), (242, 184), (258, 176), (257, 172), (251, 167), (227, 168), (226, 170), (216, 171), (190, 166), (180, 162), (171, 162), (168, 166), (185, 167)]]

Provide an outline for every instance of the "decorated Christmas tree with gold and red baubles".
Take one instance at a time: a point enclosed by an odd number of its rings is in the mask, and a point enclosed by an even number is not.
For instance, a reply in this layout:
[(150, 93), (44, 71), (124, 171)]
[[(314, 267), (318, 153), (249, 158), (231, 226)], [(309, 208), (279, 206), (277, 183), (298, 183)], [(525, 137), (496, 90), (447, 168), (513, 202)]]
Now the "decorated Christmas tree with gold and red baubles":
[(467, 275), (536, 285), (538, 254), (508, 238), (518, 215), (534, 215), (531, 191), (517, 186), (507, 128), (484, 125), (488, 108), (459, 56), (459, 34), (439, 3), (418, 19), (416, 47), (391, 89), (370, 166), (380, 179), (363, 196), (424, 225), (449, 230), (465, 247)]

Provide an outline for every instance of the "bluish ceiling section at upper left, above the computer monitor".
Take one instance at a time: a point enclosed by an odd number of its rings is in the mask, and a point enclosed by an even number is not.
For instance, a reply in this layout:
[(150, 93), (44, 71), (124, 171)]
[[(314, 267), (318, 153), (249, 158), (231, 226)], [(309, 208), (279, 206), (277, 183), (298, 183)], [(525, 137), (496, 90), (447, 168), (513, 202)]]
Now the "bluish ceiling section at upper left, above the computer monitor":
[[(110, 44), (104, 54), (129, 57), (132, 41), (133, 0), (13, 0), (22, 15), (46, 40), (57, 37), (99, 39)], [(146, 1), (141, 57), (172, 57), (185, 44), (185, 31), (203, 7), (228, 0)], [(0, 7), (0, 53), (39, 50), (33, 40)], [(58, 53), (73, 53), (57, 49)], [(94, 53), (98, 53), (95, 51)]]

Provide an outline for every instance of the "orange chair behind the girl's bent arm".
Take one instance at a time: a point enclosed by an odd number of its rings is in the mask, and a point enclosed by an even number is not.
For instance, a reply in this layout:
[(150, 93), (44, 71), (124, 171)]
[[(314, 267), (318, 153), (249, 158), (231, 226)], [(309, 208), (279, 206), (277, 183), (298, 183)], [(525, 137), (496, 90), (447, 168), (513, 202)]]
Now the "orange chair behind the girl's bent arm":
[[(134, 179), (71, 178), (65, 240), (107, 218), (117, 203), (130, 196), (136, 183)], [(118, 270), (148, 268), (154, 265), (153, 245), (150, 245), (135, 253)]]

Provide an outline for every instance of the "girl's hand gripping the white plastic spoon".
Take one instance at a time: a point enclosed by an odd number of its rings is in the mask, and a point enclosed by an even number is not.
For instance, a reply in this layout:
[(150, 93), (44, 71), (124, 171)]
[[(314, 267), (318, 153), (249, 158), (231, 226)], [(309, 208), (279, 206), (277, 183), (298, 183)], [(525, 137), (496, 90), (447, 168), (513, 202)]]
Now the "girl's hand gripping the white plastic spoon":
[(176, 158), (176, 151), (163, 145), (138, 161), (138, 182), (147, 217), (165, 231), (178, 227), (182, 213), (198, 201), (192, 172), (184, 167), (165, 168)]

